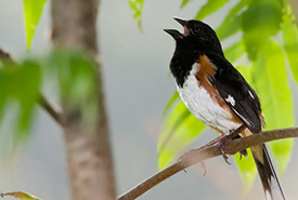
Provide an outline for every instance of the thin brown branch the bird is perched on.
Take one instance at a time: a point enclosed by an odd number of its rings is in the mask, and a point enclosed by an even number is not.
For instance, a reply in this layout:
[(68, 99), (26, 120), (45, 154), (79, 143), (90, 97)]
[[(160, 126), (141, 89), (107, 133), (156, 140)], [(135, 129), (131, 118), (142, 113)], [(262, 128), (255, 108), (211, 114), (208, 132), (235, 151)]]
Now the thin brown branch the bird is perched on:
[[(226, 154), (234, 155), (241, 150), (249, 148), (255, 145), (264, 144), (267, 142), (282, 139), (282, 138), (289, 138), (289, 137), (298, 137), (298, 128), (288, 128), (288, 129), (280, 129), (280, 130), (272, 130), (272, 131), (263, 131), (260, 134), (254, 134), (247, 137), (233, 139), (231, 143), (225, 145)], [(208, 147), (202, 150), (190, 150), (187, 154), (187, 160), (183, 159), (183, 163), (178, 160), (176, 163), (169, 165), (168, 168), (157, 172), (150, 178), (145, 179), (144, 182), (140, 183), (138, 186), (129, 190), (128, 192), (118, 197), (117, 200), (131, 200), (140, 197), (157, 184), (164, 182), (168, 177), (174, 175), (176, 173), (189, 168), (197, 162), (217, 157), (221, 155), (219, 148), (215, 146)], [(185, 154), (185, 155), (186, 155)], [(190, 158), (190, 159), (189, 159)]]

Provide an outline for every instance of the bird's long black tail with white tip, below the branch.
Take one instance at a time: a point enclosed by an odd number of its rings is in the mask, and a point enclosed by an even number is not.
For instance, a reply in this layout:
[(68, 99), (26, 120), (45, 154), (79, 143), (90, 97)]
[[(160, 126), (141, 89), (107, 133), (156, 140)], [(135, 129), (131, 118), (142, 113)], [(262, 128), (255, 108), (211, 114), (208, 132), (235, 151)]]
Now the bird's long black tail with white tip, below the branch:
[(251, 147), (267, 200), (285, 200), (278, 178), (264, 145)]

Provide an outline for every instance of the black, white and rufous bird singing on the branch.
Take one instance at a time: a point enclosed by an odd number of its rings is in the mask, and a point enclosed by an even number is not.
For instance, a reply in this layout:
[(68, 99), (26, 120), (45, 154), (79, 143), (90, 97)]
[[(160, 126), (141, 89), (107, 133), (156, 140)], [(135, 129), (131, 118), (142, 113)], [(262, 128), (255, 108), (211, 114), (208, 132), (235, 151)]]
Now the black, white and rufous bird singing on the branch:
[[(217, 144), (226, 160), (226, 141), (260, 133), (264, 116), (256, 91), (225, 58), (216, 31), (195, 19), (174, 19), (184, 32), (164, 29), (176, 41), (170, 71), (187, 109), (220, 134), (206, 146)], [(267, 200), (285, 196), (265, 145), (250, 147)], [(246, 150), (241, 154), (246, 156)]]

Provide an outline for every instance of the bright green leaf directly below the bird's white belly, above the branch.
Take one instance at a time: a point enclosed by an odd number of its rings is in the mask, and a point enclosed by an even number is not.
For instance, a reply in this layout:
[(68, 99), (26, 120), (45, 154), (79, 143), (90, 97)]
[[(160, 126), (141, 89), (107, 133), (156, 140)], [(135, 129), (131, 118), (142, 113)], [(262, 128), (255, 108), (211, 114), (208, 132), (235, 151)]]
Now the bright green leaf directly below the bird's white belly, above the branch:
[(165, 168), (205, 129), (198, 119), (180, 102), (170, 112), (158, 138), (158, 168)]

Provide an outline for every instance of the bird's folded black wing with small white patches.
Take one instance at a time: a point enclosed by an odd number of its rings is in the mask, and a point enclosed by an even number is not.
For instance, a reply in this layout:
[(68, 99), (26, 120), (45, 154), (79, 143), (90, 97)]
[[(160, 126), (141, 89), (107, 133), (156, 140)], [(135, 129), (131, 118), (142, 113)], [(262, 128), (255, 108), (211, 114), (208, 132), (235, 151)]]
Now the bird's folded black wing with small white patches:
[(217, 66), (217, 74), (210, 83), (246, 126), (252, 133), (259, 133), (262, 129), (261, 105), (255, 90), (223, 56), (206, 55)]

